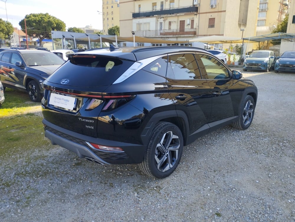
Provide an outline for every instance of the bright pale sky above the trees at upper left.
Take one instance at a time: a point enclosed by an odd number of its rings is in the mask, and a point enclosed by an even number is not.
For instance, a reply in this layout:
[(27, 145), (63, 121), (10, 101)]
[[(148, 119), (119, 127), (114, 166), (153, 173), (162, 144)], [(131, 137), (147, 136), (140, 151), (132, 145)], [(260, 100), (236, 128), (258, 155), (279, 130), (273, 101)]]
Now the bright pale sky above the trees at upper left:
[(92, 25), (94, 29), (102, 30), (102, 0), (0, 0), (0, 18), (6, 19), (13, 27), (20, 29), (19, 22), (27, 14), (48, 13), (65, 23), (66, 31), (70, 27), (82, 28)]

